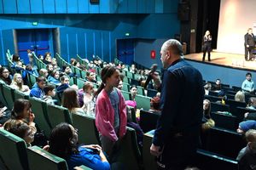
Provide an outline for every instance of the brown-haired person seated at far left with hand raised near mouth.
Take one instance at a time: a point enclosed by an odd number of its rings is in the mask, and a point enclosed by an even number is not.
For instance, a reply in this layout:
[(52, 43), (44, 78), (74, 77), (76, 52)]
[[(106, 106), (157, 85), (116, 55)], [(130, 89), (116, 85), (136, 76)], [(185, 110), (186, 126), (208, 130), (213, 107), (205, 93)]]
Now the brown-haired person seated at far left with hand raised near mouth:
[(34, 134), (37, 132), (37, 128), (35, 127), (35, 123), (33, 122), (34, 118), (35, 116), (32, 113), (29, 100), (16, 99), (14, 108), (11, 112), (11, 118), (9, 119), (9, 121), (4, 123), (3, 128), (7, 131), (15, 132), (14, 128), (17, 128), (17, 126), (21, 126), (22, 123), (26, 123), (26, 125), (28, 125), (29, 127), (29, 130), (25, 130), (27, 135), (25, 134), (23, 139), (26, 139), (27, 137), (26, 144), (30, 145), (33, 140)]

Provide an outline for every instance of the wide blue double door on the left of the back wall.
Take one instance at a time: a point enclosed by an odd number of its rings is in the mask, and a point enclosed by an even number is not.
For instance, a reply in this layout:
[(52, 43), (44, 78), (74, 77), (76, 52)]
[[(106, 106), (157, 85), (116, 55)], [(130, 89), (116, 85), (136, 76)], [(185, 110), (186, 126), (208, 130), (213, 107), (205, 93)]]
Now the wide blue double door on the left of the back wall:
[(17, 47), (20, 59), (28, 63), (27, 49), (35, 54), (44, 55), (49, 52), (49, 29), (28, 29), (17, 31)]

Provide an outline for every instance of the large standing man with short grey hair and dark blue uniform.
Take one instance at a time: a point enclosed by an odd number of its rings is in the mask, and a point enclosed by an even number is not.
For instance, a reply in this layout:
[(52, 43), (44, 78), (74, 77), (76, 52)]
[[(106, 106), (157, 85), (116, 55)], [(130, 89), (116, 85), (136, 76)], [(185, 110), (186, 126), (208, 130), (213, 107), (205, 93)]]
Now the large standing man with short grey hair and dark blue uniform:
[(166, 41), (160, 51), (165, 71), (161, 115), (154, 132), (152, 155), (159, 169), (180, 170), (195, 158), (199, 142), (204, 89), (201, 73), (181, 58), (182, 44)]

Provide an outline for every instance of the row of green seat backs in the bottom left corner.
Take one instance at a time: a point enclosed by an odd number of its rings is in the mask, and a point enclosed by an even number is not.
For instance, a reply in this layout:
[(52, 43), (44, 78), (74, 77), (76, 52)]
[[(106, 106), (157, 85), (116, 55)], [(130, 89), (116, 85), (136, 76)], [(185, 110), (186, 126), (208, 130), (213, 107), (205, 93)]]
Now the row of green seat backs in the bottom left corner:
[[(0, 130), (1, 169), (15, 170), (67, 170), (64, 159), (50, 154), (38, 146), (26, 147), (23, 139), (3, 129)], [(81, 170), (89, 167), (81, 166)]]

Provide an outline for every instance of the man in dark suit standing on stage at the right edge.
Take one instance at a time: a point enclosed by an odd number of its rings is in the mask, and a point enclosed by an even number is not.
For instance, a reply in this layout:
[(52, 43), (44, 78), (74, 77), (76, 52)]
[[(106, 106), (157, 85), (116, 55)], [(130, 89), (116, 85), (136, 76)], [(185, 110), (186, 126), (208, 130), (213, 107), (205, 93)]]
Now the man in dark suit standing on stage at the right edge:
[[(253, 35), (253, 29), (248, 28), (247, 34), (244, 35), (244, 48), (245, 48), (245, 59), (252, 60), (253, 59), (253, 48), (255, 47), (255, 38)], [(249, 53), (249, 59), (248, 59)]]

